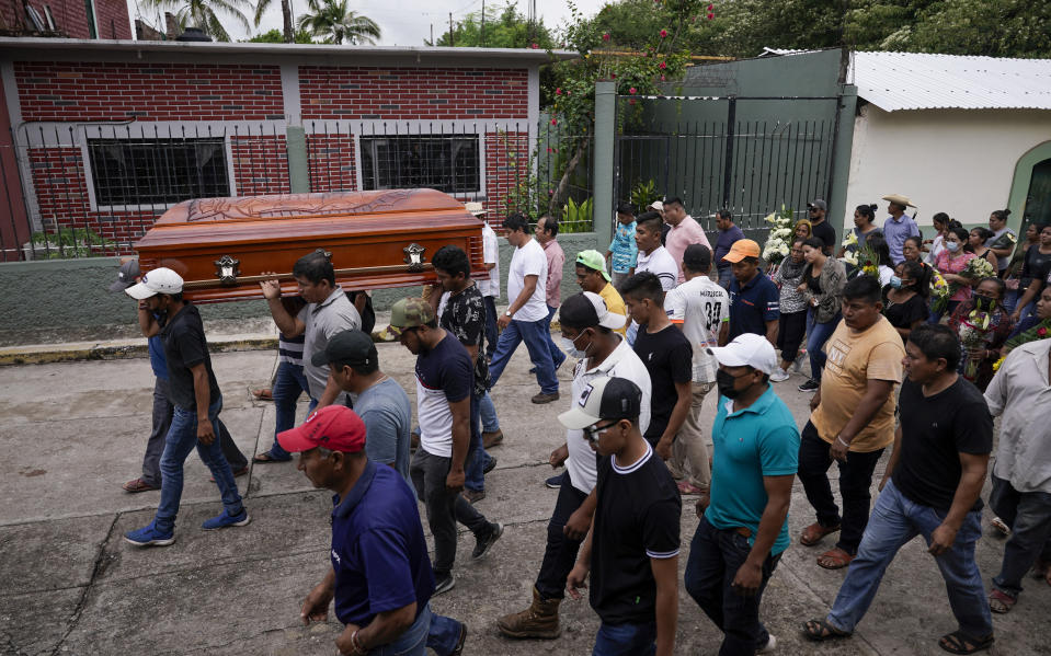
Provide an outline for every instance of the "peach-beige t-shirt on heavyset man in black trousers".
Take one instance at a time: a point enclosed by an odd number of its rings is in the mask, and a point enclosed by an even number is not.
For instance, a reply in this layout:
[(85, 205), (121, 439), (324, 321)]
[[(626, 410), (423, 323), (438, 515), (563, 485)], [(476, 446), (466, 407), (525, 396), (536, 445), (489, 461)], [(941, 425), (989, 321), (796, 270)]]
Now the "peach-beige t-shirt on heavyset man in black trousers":
[[(898, 331), (880, 317), (862, 332), (841, 321), (825, 343), (825, 354), (829, 359), (821, 376), (821, 404), (810, 421), (821, 439), (831, 444), (857, 411), (869, 380), (901, 383), (905, 349)], [(894, 441), (896, 404), (898, 395), (891, 390), (882, 407), (850, 441), (852, 451), (868, 453)]]

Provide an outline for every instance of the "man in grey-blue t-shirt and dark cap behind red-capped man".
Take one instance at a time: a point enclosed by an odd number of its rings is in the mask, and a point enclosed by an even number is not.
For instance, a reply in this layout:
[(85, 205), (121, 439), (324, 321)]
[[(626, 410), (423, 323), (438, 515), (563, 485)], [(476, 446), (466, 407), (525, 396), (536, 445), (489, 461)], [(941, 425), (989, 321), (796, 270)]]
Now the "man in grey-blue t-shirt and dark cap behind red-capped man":
[(312, 361), (319, 367), (329, 367), (340, 388), (357, 395), (354, 412), (365, 422), (368, 459), (390, 465), (411, 484), (412, 405), (398, 381), (379, 370), (379, 354), (373, 338), (358, 330), (336, 333), (323, 352), (313, 355)]

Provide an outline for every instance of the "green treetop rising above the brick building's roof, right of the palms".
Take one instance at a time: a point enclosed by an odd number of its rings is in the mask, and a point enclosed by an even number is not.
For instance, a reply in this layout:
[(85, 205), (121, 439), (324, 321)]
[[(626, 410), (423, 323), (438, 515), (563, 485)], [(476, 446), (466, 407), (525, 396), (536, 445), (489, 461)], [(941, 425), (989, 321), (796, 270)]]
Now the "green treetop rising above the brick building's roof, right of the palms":
[(456, 46), (462, 48), (541, 48), (550, 49), (555, 38), (542, 21), (529, 22), (518, 7), (509, 2), (501, 8), (485, 8), (484, 31), (482, 13), (469, 13), (453, 27), (453, 38), (446, 30), (429, 46)]

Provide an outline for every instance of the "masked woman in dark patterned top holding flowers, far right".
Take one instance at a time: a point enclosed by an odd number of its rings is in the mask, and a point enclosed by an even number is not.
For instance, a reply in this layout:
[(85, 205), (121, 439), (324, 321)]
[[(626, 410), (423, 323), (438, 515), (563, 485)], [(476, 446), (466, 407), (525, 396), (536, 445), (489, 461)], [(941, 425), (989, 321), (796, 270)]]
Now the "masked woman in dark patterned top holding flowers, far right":
[(949, 327), (960, 339), (957, 372), (983, 392), (993, 379), (993, 364), (1013, 325), (1003, 304), (1004, 289), (1004, 281), (995, 275), (983, 278), (971, 298), (949, 318)]

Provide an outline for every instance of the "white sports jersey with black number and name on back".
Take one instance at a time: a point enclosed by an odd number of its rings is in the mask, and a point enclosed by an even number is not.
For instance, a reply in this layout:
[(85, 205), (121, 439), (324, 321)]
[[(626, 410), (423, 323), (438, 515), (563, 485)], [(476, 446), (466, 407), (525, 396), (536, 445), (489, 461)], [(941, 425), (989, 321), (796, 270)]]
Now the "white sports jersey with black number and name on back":
[(664, 310), (694, 347), (694, 382), (715, 382), (719, 365), (708, 348), (719, 345), (719, 329), (730, 321), (730, 295), (708, 276), (697, 276), (667, 292)]

